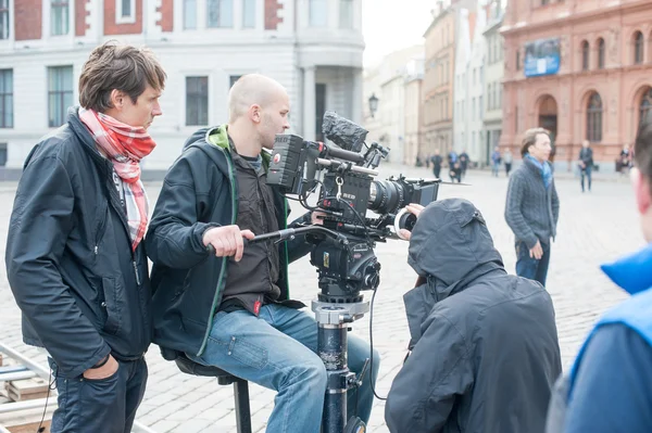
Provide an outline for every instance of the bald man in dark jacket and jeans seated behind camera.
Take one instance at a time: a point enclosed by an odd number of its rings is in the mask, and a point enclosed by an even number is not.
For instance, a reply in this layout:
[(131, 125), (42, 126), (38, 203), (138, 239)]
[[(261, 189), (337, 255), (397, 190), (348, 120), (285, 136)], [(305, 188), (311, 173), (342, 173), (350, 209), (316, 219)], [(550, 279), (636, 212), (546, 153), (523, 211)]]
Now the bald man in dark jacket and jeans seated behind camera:
[[(302, 238), (242, 242), (287, 227), (288, 205), (266, 183), (269, 156), (263, 149), (290, 127), (288, 94), (254, 74), (241, 77), (228, 99), (228, 124), (192, 135), (165, 176), (147, 233), (154, 343), (167, 359), (185, 354), (276, 390), (268, 432), (318, 433), (327, 377), (315, 353), (317, 324), (300, 310), (305, 305), (290, 300), (287, 273), (312, 245)], [(306, 214), (293, 224), (310, 220)], [(309, 283), (317, 290), (316, 280)], [(366, 343), (349, 338), (351, 371), (360, 372), (369, 355)], [(375, 381), (377, 369), (374, 362), (350, 396), (349, 417), (358, 407), (368, 420), (369, 377)]]

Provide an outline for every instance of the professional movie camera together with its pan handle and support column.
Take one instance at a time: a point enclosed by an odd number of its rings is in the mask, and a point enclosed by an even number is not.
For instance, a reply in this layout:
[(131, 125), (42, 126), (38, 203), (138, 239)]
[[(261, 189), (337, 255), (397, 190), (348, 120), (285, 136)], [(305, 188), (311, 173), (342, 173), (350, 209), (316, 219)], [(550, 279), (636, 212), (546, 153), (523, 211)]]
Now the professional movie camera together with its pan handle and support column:
[[(268, 184), (299, 200), (306, 209), (324, 213), (323, 225), (261, 234), (249, 242), (304, 234), (315, 244), (311, 264), (317, 268), (321, 293), (312, 310), (318, 324), (317, 354), (328, 373), (322, 432), (362, 433), (364, 423), (347, 416), (347, 391), (362, 383), (368, 360), (358, 378), (349, 371), (349, 323), (369, 310), (361, 291), (376, 290), (380, 282), (376, 242), (400, 238), (400, 229), (411, 230), (416, 217), (405, 212), (405, 205), (426, 206), (437, 200), (440, 180), (403, 176), (374, 180), (389, 150), (376, 142), (366, 145), (367, 131), (333, 112), (324, 115), (323, 132), (335, 144), (277, 135), (267, 170)], [(310, 205), (313, 193), (317, 201)], [(376, 215), (367, 215), (367, 211)]]

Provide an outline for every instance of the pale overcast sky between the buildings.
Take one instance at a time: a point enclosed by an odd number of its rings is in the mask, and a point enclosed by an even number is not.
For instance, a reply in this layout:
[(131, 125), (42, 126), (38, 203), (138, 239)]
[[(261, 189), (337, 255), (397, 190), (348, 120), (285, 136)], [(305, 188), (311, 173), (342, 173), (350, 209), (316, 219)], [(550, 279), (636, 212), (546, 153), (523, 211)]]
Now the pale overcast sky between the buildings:
[(392, 51), (422, 42), (436, 4), (436, 0), (363, 0), (365, 66)]

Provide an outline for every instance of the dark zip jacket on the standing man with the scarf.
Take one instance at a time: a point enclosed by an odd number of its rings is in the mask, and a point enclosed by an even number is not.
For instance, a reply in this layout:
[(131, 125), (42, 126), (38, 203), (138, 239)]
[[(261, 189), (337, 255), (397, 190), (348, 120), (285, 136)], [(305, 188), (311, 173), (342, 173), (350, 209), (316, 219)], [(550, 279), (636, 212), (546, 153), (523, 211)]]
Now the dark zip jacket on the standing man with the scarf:
[(110, 352), (129, 360), (147, 351), (147, 256), (142, 242), (130, 245), (112, 163), (71, 109), (27, 156), (5, 252), (23, 339), (45, 347), (60, 375), (78, 377)]

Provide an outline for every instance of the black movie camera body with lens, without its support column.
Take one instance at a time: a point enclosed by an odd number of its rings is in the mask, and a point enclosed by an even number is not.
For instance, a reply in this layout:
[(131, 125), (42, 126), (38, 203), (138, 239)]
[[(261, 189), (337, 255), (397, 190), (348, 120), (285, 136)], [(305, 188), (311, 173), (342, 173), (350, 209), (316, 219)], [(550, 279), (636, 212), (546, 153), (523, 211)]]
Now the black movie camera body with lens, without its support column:
[[(439, 180), (403, 176), (375, 180), (375, 168), (389, 150), (374, 142), (361, 153), (367, 131), (333, 112), (324, 115), (323, 129), (337, 144), (277, 135), (267, 183), (286, 195), (297, 195), (303, 207), (323, 212), (324, 228), (348, 239), (342, 245), (324, 235), (306, 235), (315, 244), (311, 264), (319, 275), (319, 300), (360, 302), (361, 290), (376, 289), (379, 283), (375, 242), (397, 238), (402, 228), (411, 229), (416, 218), (400, 211), (410, 203), (426, 206), (437, 200)], [(306, 199), (317, 187), (317, 204), (312, 207)], [(367, 216), (367, 211), (376, 213), (376, 217)]]

